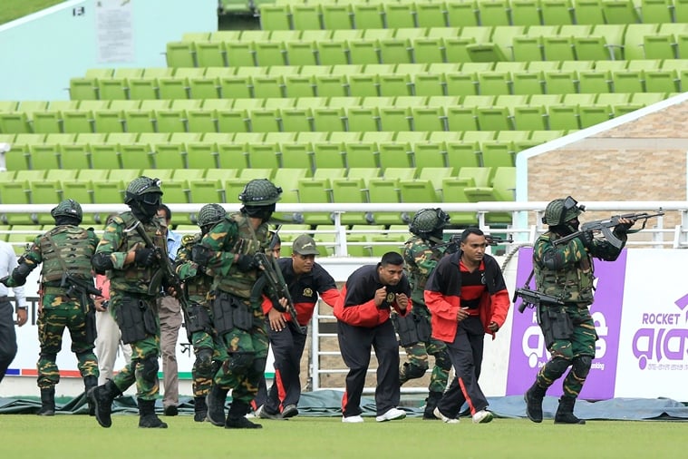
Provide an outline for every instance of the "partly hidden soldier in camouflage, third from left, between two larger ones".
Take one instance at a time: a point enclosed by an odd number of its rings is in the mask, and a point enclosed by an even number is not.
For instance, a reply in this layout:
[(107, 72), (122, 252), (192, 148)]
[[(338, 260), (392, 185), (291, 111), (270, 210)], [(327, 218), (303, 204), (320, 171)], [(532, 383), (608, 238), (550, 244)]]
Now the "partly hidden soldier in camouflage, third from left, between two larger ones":
[(177, 273), (184, 282), (189, 295), (189, 310), (184, 311), (187, 337), (196, 355), (191, 376), (193, 377), (194, 421), (203, 422), (208, 415), (206, 396), (210, 392), (217, 368), (215, 338), (212, 324), (212, 309), (208, 304), (208, 293), (213, 283), (212, 271), (199, 266), (191, 259), (193, 248), (200, 244), (203, 236), (225, 220), (226, 212), (219, 204), (206, 204), (199, 210), (200, 233), (188, 234), (181, 239), (177, 252)]

